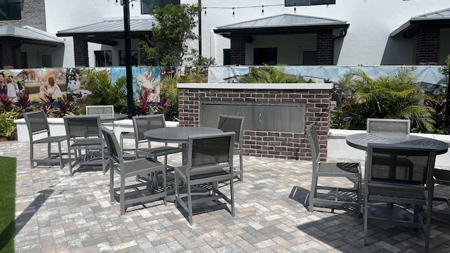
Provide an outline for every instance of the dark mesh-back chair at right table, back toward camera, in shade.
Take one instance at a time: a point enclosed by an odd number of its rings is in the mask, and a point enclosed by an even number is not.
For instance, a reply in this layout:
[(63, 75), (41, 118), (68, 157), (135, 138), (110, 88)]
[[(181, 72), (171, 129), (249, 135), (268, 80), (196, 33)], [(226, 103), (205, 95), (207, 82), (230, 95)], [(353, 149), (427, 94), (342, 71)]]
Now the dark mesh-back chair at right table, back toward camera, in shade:
[[(368, 245), (368, 221), (374, 224), (419, 228), (425, 235), (425, 252), (430, 240), (432, 212), (433, 168), (437, 148), (400, 144), (368, 144), (364, 181), (364, 245)], [(373, 157), (384, 157), (389, 164), (373, 162)], [(405, 175), (403, 164), (397, 158), (406, 157), (413, 163), (413, 176)], [(378, 159), (378, 158), (377, 158)], [(376, 225), (375, 225), (376, 226)]]

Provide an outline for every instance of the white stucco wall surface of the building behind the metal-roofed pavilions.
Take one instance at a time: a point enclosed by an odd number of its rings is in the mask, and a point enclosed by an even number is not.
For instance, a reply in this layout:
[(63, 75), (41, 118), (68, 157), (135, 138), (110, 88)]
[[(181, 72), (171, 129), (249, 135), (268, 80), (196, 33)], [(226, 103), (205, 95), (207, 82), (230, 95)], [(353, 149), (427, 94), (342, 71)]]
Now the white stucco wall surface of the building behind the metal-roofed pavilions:
[[(202, 0), (201, 2), (203, 7), (207, 8), (207, 14), (202, 13), (203, 56), (216, 58), (218, 65), (223, 63), (223, 49), (230, 48), (230, 41), (214, 34), (212, 32), (214, 28), (271, 15), (294, 13), (293, 7), (284, 7), (284, 0)], [(123, 17), (123, 8), (120, 4), (116, 6), (115, 0), (109, 2), (106, 0), (46, 0), (45, 3), (47, 32), (53, 34), (60, 30), (101, 22), (104, 18)], [(198, 4), (198, 0), (181, 0), (181, 3)], [(261, 13), (263, 5), (265, 6), (264, 15)], [(235, 7), (234, 16), (232, 7)], [(347, 36), (342, 41), (336, 41), (335, 44), (335, 50), (338, 52), (335, 56), (337, 65), (395, 65), (412, 63), (414, 45), (413, 40), (392, 39), (389, 34), (413, 16), (449, 7), (450, 0), (345, 0), (336, 1), (335, 5), (329, 6), (297, 6), (296, 8), (297, 15), (332, 18), (349, 23)], [(134, 8), (130, 8), (130, 16), (139, 15), (141, 15), (140, 2), (134, 1)], [(449, 34), (450, 32), (442, 33), (442, 45), (450, 43)], [(74, 67), (72, 38), (65, 39), (63, 67)], [(277, 42), (282, 41), (280, 37)], [(299, 41), (298, 45), (292, 45), (292, 47), (298, 48), (301, 43), (302, 41)], [(192, 43), (192, 45), (197, 47), (198, 43)], [(89, 45), (90, 50), (97, 50), (96, 48)], [(392, 56), (393, 53), (394, 56)], [(442, 49), (441, 58), (447, 53), (450, 53), (450, 49)], [(118, 57), (117, 53), (115, 55)], [(89, 54), (89, 59), (91, 64), (94, 59), (93, 53)]]

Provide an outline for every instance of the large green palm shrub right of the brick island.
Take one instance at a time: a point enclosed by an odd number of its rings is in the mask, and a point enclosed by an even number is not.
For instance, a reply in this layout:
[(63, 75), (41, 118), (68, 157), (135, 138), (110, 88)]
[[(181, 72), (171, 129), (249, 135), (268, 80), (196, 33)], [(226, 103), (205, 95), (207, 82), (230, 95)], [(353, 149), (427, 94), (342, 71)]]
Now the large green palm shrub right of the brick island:
[(434, 131), (434, 109), (419, 105), (428, 96), (416, 84), (414, 73), (413, 67), (401, 67), (392, 76), (375, 79), (362, 70), (347, 73), (340, 85), (351, 95), (333, 112), (337, 113), (333, 124), (345, 129), (366, 129), (367, 118), (411, 119), (412, 131)]

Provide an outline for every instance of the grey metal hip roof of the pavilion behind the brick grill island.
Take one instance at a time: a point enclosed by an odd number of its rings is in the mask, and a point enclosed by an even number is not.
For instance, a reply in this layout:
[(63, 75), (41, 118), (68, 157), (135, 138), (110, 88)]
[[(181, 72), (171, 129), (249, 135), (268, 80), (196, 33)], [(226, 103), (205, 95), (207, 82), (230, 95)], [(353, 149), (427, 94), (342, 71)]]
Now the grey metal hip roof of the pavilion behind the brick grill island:
[(281, 14), (217, 27), (215, 33), (227, 37), (231, 32), (295, 32), (314, 28), (347, 28), (347, 21), (306, 15)]

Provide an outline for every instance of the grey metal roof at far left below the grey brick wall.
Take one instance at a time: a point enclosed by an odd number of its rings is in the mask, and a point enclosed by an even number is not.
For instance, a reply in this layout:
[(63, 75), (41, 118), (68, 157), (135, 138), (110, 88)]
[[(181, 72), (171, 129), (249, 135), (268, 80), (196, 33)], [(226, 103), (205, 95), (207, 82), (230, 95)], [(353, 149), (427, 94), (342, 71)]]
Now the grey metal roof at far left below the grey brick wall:
[(0, 38), (6, 37), (22, 39), (25, 43), (30, 44), (44, 44), (47, 46), (64, 45), (64, 39), (28, 25), (24, 27), (15, 27), (14, 25), (0, 27)]

